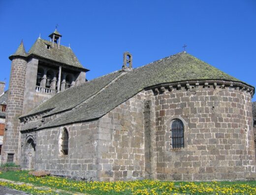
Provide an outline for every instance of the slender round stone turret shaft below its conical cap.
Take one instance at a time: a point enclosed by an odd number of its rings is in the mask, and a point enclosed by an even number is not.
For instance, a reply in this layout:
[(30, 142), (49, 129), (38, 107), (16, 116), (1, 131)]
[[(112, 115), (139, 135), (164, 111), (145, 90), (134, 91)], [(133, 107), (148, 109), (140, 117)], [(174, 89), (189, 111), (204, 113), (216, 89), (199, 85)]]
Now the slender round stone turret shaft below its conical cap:
[(18, 145), (20, 122), (18, 117), (22, 114), (24, 88), (26, 78), (27, 61), (22, 58), (14, 58), (11, 64), (11, 75), (8, 91), (8, 102), (6, 108), (5, 127), (3, 146), (2, 146), (2, 163), (7, 162), (7, 154), (14, 154), (14, 162), (18, 162)]

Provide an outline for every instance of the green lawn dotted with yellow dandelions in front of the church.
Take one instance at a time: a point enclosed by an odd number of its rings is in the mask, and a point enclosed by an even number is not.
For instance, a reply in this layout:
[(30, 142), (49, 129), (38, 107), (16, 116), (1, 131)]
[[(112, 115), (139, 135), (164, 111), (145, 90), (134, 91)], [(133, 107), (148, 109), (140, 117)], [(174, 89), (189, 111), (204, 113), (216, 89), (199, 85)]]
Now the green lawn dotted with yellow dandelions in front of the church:
[[(28, 171), (7, 171), (0, 173), (0, 178), (23, 182), (18, 185), (9, 182), (0, 185), (15, 188), (32, 195), (256, 195), (256, 181), (236, 182), (170, 182), (170, 181), (118, 181), (85, 182), (62, 177), (34, 177)], [(32, 184), (33, 186), (29, 186)], [(35, 187), (37, 187), (35, 189)], [(38, 187), (42, 187), (39, 189)], [(26, 191), (30, 188), (30, 191)], [(44, 189), (45, 188), (45, 189)], [(63, 190), (56, 193), (56, 189)], [(35, 191), (35, 192), (33, 192)], [(69, 195), (70, 195), (69, 194)]]

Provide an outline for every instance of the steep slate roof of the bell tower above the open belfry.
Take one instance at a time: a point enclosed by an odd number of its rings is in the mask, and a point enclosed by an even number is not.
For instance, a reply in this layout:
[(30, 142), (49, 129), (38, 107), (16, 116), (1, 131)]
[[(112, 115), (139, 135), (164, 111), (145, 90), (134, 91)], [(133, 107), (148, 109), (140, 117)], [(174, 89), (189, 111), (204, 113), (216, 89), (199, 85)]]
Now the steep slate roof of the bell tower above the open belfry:
[[(51, 48), (47, 49), (46, 46), (50, 45)], [(58, 45), (54, 43), (54, 47), (52, 47), (52, 42), (38, 38), (35, 43), (32, 45), (32, 48), (29, 51), (29, 55), (36, 55), (46, 59), (50, 59), (56, 62), (64, 63), (69, 66), (77, 67), (85, 69), (82, 64), (78, 61), (77, 57), (73, 53), (73, 51), (60, 45), (60, 49)]]

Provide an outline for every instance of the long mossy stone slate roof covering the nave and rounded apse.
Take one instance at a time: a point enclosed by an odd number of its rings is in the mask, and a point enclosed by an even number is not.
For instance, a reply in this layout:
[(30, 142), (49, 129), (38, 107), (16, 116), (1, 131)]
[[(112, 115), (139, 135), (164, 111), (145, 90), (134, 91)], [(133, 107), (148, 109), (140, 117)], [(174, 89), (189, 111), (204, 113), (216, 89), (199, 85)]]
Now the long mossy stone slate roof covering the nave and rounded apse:
[[(117, 78), (121, 73), (124, 75)], [(96, 90), (90, 89), (91, 87), (96, 87), (98, 90), (108, 83), (105, 82), (103, 84), (100, 82), (100, 80), (104, 78), (108, 78), (108, 82), (111, 79), (117, 79), (105, 87), (104, 90), (100, 91), (95, 97), (87, 100), (86, 103), (73, 108), (71, 111), (65, 112), (40, 128), (99, 118), (144, 88), (156, 84), (209, 79), (241, 82), (194, 56), (187, 53), (179, 53), (131, 71), (118, 71), (93, 80), (91, 83), (88, 82), (81, 86), (70, 88), (55, 95), (31, 113), (43, 111), (46, 110), (46, 108), (49, 109), (51, 107), (55, 107), (56, 111), (58, 111), (62, 106), (65, 107), (65, 104), (69, 104), (67, 101), (62, 100), (62, 98), (65, 97), (67, 97), (65, 98), (66, 100), (69, 99), (69, 101), (72, 100), (82, 103), (83, 100), (86, 100), (86, 98), (95, 93)], [(89, 91), (84, 90), (82, 92), (78, 92), (79, 89), (89, 89)], [(77, 94), (79, 94), (81, 98), (77, 97)], [(76, 100), (73, 100), (73, 98)], [(69, 108), (74, 105), (78, 104), (71, 103)], [(52, 110), (51, 113), (56, 112), (54, 110)]]

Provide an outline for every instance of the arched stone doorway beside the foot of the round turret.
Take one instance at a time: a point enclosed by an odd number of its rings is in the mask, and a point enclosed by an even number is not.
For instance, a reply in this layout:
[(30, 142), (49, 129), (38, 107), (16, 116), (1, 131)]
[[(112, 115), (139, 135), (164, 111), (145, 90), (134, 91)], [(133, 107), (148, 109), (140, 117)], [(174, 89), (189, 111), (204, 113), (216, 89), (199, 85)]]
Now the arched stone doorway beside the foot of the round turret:
[(23, 146), (23, 168), (33, 169), (35, 161), (35, 143), (32, 138), (27, 139)]

